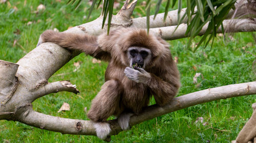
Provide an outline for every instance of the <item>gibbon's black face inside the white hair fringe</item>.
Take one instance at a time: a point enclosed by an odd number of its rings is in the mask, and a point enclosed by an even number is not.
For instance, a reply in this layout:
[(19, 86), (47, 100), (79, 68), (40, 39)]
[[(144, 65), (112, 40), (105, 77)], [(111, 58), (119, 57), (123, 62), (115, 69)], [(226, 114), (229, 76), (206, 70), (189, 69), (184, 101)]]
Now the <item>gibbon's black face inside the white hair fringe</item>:
[(131, 59), (130, 65), (133, 67), (140, 67), (144, 68), (145, 61), (150, 55), (150, 50), (146, 48), (140, 48), (140, 47), (131, 47), (129, 48), (129, 57)]

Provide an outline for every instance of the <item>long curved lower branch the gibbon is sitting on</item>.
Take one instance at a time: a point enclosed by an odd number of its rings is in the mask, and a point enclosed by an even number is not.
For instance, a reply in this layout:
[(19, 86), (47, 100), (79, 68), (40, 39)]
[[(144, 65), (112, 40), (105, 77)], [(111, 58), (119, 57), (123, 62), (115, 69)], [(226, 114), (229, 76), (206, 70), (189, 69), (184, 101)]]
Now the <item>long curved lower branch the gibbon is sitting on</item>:
[[(186, 94), (177, 98), (163, 107), (158, 105), (148, 106), (143, 110), (140, 115), (132, 116), (130, 125), (134, 126), (143, 121), (156, 118), (169, 112), (180, 110), (189, 106), (215, 101), (219, 99), (226, 99), (231, 97), (238, 97), (244, 95), (256, 94), (256, 81), (225, 85), (223, 87), (207, 89), (190, 94)], [(43, 113), (36, 112), (32, 106), (24, 106), (17, 111), (19, 116), (17, 121), (31, 125), (37, 128), (61, 132), (63, 134), (82, 134), (82, 135), (96, 135), (92, 121), (83, 121), (75, 119), (65, 119), (44, 115)], [(116, 120), (108, 121), (111, 124), (110, 135), (118, 134), (121, 128)]]

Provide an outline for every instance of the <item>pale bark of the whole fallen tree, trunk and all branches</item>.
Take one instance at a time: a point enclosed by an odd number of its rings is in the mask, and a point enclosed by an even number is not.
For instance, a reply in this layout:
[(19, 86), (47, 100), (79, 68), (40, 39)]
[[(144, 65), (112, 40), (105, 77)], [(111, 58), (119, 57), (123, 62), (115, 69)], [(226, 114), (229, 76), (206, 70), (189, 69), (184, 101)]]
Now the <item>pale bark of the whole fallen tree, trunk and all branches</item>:
[[(135, 0), (130, 5), (125, 4), (120, 12), (113, 16), (112, 30), (118, 27), (146, 27), (144, 17), (131, 19), (136, 3)], [(184, 14), (184, 9), (182, 14)], [(103, 30), (101, 29), (101, 23), (102, 17), (100, 16), (92, 22), (75, 26), (67, 30), (66, 33), (99, 35), (106, 31), (106, 26)], [(181, 24), (177, 31), (171, 35), (176, 27), (171, 26), (174, 24), (177, 24), (177, 11), (169, 12), (165, 22), (163, 22), (163, 14), (159, 14), (155, 20), (151, 20), (150, 32), (166, 40), (185, 37), (185, 24)], [(228, 22), (223, 24), (224, 27), (230, 25)], [(235, 31), (230, 32), (255, 31), (254, 24), (247, 24), (246, 28), (241, 25), (236, 27)], [(203, 35), (204, 32), (203, 28), (200, 35)], [(50, 93), (60, 91), (78, 93), (76, 86), (69, 81), (49, 83), (48, 79), (79, 53), (79, 51), (68, 51), (53, 43), (42, 43), (20, 59), (17, 64), (0, 61), (0, 120), (19, 121), (41, 129), (65, 134), (96, 135), (93, 128), (94, 123), (91, 121), (53, 117), (36, 112), (32, 108), (34, 100)], [(251, 94), (256, 94), (255, 82), (227, 85), (190, 93), (175, 98), (171, 104), (164, 107), (157, 105), (147, 107), (140, 115), (132, 116), (130, 124), (133, 126), (165, 113), (204, 102)], [(108, 122), (112, 128), (110, 135), (121, 131), (116, 120)]]

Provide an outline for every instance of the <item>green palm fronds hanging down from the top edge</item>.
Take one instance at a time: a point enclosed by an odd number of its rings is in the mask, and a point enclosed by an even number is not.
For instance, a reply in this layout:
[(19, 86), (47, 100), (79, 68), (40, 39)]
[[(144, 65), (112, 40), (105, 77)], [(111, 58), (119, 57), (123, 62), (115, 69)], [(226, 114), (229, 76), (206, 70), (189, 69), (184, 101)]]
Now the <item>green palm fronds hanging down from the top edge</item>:
[[(99, 7), (102, 0), (93, 0), (92, 6), (89, 11), (90, 17), (96, 3), (97, 8)], [(159, 12), (160, 6), (162, 4), (162, 0), (158, 0), (156, 4), (155, 14), (154, 18)], [(168, 8), (170, 5), (171, 0), (167, 0), (166, 6), (165, 6), (165, 13), (164, 13), (164, 20), (167, 17)], [(177, 0), (172, 1), (172, 7), (176, 5)], [(69, 0), (68, 4), (76, 4), (76, 8), (81, 3), (81, 0)], [(149, 31), (150, 28), (150, 10), (151, 10), (151, 0), (146, 1), (146, 24), (147, 24), (147, 31)], [(236, 0), (206, 0), (206, 1), (200, 1), (200, 0), (187, 0), (186, 6), (187, 9), (185, 11), (185, 14), (180, 17), (181, 9), (182, 9), (182, 1), (178, 0), (178, 25), (181, 23), (181, 21), (184, 20), (185, 17), (187, 17), (187, 30), (186, 35), (189, 36), (189, 41), (187, 43), (187, 47), (189, 47), (191, 40), (193, 40), (202, 30), (203, 26), (208, 23), (208, 27), (206, 29), (206, 32), (204, 36), (201, 38), (199, 43), (197, 44), (198, 47), (204, 43), (204, 48), (208, 45), (208, 43), (212, 40), (214, 40), (214, 37), (216, 36), (216, 30), (219, 28), (219, 26), (222, 25), (222, 21), (226, 18), (228, 12), (231, 8), (234, 7), (234, 3), (236, 3)], [(102, 8), (102, 15), (103, 15), (103, 21), (102, 21), (102, 28), (104, 27), (106, 18), (108, 17), (108, 33), (110, 31), (110, 25), (111, 25), (111, 18), (113, 14), (113, 7), (114, 7), (114, 0), (103, 0), (103, 8)]]

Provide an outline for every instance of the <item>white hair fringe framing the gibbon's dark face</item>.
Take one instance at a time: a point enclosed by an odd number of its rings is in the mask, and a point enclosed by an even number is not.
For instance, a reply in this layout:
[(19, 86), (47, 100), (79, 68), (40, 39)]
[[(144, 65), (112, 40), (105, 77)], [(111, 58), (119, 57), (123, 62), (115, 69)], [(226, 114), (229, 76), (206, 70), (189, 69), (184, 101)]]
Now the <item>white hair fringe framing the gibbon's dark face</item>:
[(132, 66), (133, 66), (133, 59), (132, 59), (132, 57), (131, 57), (131, 55), (130, 55), (130, 51), (131, 51), (131, 50), (138, 50), (139, 52), (140, 52), (140, 51), (146, 51), (146, 52), (148, 53), (147, 57), (144, 59), (144, 65), (143, 65), (143, 67), (142, 67), (142, 69), (144, 69), (145, 66), (146, 66), (148, 63), (150, 63), (151, 56), (152, 56), (151, 50), (150, 50), (150, 49), (147, 49), (147, 48), (144, 48), (144, 47), (130, 47), (130, 48), (128, 48), (128, 50), (127, 50), (128, 52), (127, 52), (126, 54), (127, 54), (128, 59), (130, 59), (130, 67), (131, 67), (131, 68), (132, 68)]

